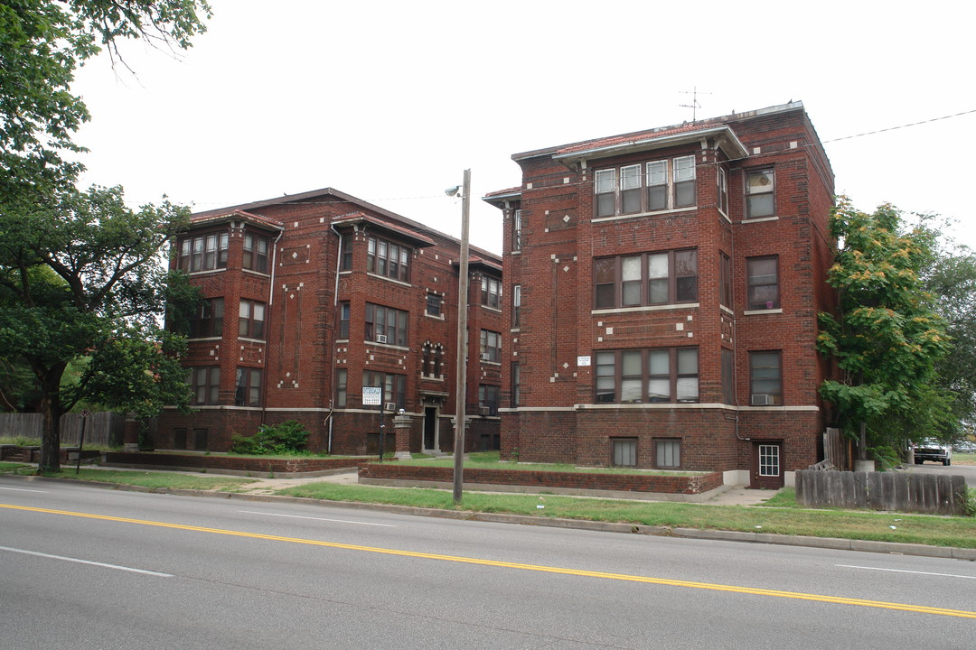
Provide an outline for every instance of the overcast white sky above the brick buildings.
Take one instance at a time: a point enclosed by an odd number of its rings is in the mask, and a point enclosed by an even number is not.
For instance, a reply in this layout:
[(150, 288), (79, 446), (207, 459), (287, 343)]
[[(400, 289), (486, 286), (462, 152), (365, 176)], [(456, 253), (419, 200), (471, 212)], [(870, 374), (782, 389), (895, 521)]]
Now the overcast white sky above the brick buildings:
[(182, 60), (133, 45), (137, 78), (79, 72), (86, 185), (194, 210), (334, 187), (459, 237), (443, 190), (470, 168), (471, 243), (501, 252), (480, 197), (519, 184), (511, 154), (679, 124), (697, 87), (700, 119), (802, 100), (838, 193), (955, 217), (976, 246), (976, 10), (957, 0), (212, 5)]

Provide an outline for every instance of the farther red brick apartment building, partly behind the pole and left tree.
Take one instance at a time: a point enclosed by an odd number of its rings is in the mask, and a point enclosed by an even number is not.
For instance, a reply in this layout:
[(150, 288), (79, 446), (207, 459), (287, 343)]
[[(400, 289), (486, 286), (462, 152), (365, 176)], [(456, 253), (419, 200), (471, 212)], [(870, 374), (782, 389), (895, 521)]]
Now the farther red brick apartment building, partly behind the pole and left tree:
[[(197, 412), (166, 411), (156, 446), (220, 451), (296, 419), (312, 450), (376, 453), (362, 388), (382, 386), (387, 449), (404, 409), (411, 451), (453, 451), (460, 249), (332, 188), (193, 214), (172, 264), (204, 297), (185, 360)], [(498, 448), (501, 259), (471, 248), (469, 272), (466, 440)]]

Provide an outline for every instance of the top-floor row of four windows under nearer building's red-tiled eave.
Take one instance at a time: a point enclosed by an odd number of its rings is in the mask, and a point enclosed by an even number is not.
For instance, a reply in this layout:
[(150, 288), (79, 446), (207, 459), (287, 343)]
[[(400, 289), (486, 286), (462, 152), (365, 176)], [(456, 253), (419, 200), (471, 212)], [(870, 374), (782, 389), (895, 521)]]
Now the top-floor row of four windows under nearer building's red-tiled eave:
[(597, 217), (691, 208), (698, 203), (693, 155), (596, 170), (593, 180)]

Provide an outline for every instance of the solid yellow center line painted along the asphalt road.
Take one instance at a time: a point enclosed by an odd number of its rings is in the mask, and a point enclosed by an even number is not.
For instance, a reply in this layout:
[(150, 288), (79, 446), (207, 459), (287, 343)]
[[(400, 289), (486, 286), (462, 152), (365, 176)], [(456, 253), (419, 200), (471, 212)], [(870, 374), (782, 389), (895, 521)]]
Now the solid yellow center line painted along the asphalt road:
[(586, 578), (603, 578), (606, 580), (623, 580), (634, 583), (646, 583), (650, 585), (663, 585), (667, 587), (684, 587), (686, 589), (702, 589), (712, 592), (729, 593), (749, 593), (752, 595), (768, 595), (778, 598), (793, 598), (797, 600), (813, 600), (816, 602), (829, 602), (838, 605), (855, 605), (858, 607), (874, 607), (878, 609), (895, 609), (904, 612), (915, 612), (918, 614), (935, 614), (939, 616), (954, 616), (963, 619), (976, 619), (976, 612), (946, 609), (943, 607), (926, 607), (923, 605), (911, 605), (900, 602), (885, 602), (883, 600), (865, 600), (862, 598), (844, 598), (834, 595), (821, 595), (817, 593), (798, 593), (781, 592), (778, 590), (755, 589), (752, 587), (737, 587), (734, 585), (716, 585), (712, 583), (690, 582), (686, 580), (668, 580), (665, 578), (649, 578), (647, 576), (633, 576), (625, 573), (603, 573), (601, 571), (584, 571), (582, 569), (566, 569), (558, 566), (545, 566), (541, 564), (522, 564), (520, 562), (505, 562), (496, 559), (479, 559), (476, 557), (463, 557), (459, 555), (442, 555), (434, 553), (419, 553), (416, 551), (398, 551), (396, 549), (383, 549), (379, 547), (359, 546), (356, 544), (340, 544), (338, 542), (322, 542), (319, 540), (306, 540), (300, 537), (281, 537), (279, 535), (264, 535), (262, 533), (249, 533), (242, 530), (224, 530), (222, 528), (207, 528), (204, 526), (190, 526), (183, 523), (168, 523), (166, 521), (151, 521), (148, 519), (131, 519), (123, 516), (93, 515), (90, 513), (74, 513), (65, 510), (50, 510), (47, 508), (30, 508), (27, 506), (14, 506), (10, 504), (0, 504), (0, 508), (8, 510), (20, 510), (30, 513), (45, 513), (48, 515), (78, 516), (88, 519), (101, 519), (102, 521), (118, 521), (121, 523), (138, 523), (143, 526), (158, 526), (160, 528), (173, 528), (175, 530), (188, 530), (200, 533), (214, 533), (216, 535), (232, 535), (234, 537), (246, 537), (250, 539), (268, 540), (271, 542), (287, 542), (290, 544), (305, 544), (309, 546), (327, 547), (330, 549), (345, 549), (346, 551), (362, 551), (366, 553), (380, 553), (387, 555), (403, 555), (406, 557), (421, 557), (424, 559), (437, 559), (445, 562), (463, 562), (466, 564), (477, 564), (481, 566), (497, 566), (507, 569), (521, 569), (523, 571), (541, 571), (545, 573), (558, 573), (569, 576), (581, 576)]

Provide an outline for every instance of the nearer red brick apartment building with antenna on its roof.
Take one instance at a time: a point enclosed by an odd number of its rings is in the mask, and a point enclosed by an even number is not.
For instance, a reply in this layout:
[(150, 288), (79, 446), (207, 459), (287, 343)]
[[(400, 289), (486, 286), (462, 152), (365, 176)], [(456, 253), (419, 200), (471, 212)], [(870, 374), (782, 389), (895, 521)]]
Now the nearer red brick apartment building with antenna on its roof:
[(512, 156), (503, 457), (721, 471), (820, 456), (834, 173), (801, 102)]

